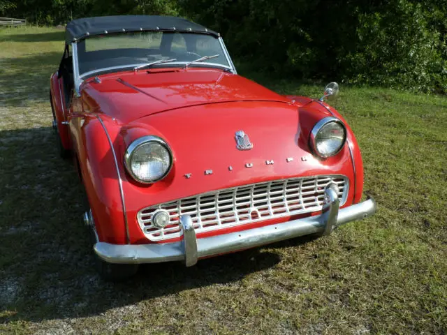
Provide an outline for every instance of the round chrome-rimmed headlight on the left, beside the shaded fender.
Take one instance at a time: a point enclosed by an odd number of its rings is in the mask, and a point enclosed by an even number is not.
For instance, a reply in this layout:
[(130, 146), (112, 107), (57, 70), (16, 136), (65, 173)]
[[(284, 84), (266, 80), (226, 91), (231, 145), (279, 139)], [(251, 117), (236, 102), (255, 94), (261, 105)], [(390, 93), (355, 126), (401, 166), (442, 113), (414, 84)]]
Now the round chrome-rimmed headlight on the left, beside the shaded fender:
[(124, 165), (136, 181), (150, 184), (166, 177), (173, 166), (173, 155), (160, 137), (143, 136), (127, 148)]

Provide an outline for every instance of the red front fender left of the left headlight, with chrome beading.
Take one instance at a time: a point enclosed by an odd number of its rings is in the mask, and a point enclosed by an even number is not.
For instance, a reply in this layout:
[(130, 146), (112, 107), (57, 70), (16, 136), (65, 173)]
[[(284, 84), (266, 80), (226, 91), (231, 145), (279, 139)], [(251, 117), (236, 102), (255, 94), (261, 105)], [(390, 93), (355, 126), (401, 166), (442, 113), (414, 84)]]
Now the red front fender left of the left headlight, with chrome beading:
[(126, 244), (129, 238), (122, 198), (122, 172), (117, 170), (114, 154), (114, 142), (119, 142), (120, 138), (119, 127), (107, 117), (100, 119), (94, 114), (73, 117), (69, 123), (98, 239)]

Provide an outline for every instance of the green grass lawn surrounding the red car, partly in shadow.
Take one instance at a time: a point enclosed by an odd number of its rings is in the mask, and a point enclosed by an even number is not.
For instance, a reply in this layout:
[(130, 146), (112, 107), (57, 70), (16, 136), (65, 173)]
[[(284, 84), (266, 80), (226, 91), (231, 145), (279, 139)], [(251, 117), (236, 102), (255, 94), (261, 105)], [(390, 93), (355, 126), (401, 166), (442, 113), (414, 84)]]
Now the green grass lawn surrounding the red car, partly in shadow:
[[(82, 188), (50, 128), (63, 36), (0, 30), (0, 334), (446, 333), (445, 96), (342, 85), (333, 105), (360, 143), (374, 217), (103, 283)], [(283, 94), (318, 97), (324, 86), (245, 74)]]

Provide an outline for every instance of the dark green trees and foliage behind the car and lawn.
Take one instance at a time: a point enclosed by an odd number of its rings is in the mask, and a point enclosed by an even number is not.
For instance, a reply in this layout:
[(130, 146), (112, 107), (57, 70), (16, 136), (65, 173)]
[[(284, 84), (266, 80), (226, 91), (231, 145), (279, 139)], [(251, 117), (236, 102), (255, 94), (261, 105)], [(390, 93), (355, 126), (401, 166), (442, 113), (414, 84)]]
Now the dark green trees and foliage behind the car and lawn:
[(188, 17), (277, 76), (447, 92), (446, 0), (0, 0), (0, 15), (41, 25), (122, 14)]

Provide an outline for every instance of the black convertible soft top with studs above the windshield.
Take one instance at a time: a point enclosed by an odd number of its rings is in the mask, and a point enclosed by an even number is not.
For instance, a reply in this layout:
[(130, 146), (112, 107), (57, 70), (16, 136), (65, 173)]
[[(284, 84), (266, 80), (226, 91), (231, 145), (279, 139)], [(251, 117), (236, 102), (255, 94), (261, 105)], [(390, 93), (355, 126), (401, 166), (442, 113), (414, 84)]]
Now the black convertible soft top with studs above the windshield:
[(117, 15), (86, 17), (69, 22), (66, 27), (66, 43), (103, 34), (124, 31), (191, 31), (194, 33), (219, 36), (217, 32), (200, 24), (174, 16)]

